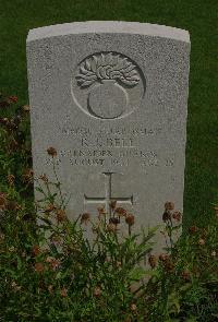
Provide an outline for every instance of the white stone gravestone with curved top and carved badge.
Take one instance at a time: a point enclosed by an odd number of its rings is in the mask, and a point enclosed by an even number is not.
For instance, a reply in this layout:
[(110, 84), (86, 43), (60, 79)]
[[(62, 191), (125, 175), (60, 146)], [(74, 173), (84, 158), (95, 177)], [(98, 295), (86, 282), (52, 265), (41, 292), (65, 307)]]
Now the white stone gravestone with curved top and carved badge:
[(183, 208), (190, 38), (129, 22), (81, 22), (27, 37), (35, 176), (52, 178), (73, 218), (116, 200), (136, 227)]

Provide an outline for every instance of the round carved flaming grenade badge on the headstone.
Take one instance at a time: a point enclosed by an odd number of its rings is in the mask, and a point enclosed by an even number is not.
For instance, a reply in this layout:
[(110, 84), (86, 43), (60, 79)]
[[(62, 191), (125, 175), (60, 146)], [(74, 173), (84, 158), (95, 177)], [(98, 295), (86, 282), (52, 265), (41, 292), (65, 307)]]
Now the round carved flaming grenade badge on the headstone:
[(124, 55), (97, 52), (78, 63), (72, 93), (86, 114), (99, 119), (122, 118), (140, 106), (145, 77)]

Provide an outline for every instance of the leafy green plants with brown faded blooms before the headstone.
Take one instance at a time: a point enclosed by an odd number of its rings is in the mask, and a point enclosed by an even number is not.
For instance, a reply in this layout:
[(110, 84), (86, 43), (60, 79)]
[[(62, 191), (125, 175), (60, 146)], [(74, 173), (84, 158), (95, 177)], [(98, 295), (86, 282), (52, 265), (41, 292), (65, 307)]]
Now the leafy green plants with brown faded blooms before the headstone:
[[(16, 98), (0, 103), (4, 110)], [(0, 118), (0, 320), (216, 321), (218, 207), (210, 225), (180, 236), (182, 214), (167, 202), (166, 248), (154, 254), (157, 228), (135, 232), (134, 215), (116, 201), (109, 218), (100, 207), (95, 219), (84, 213), (69, 220), (53, 147), (47, 152), (56, 180), (37, 179), (43, 196), (34, 203), (28, 109)]]

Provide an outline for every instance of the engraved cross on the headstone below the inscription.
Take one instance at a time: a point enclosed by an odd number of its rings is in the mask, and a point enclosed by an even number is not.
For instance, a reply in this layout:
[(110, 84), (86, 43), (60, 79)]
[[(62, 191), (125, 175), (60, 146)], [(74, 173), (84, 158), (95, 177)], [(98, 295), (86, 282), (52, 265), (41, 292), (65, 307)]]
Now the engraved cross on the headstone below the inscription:
[(131, 196), (113, 196), (112, 195), (112, 175), (114, 172), (102, 172), (105, 175), (105, 196), (96, 198), (96, 196), (87, 196), (84, 194), (84, 203), (85, 204), (105, 204), (106, 213), (111, 215), (111, 201), (117, 201), (118, 203), (128, 203), (133, 205), (133, 195)]

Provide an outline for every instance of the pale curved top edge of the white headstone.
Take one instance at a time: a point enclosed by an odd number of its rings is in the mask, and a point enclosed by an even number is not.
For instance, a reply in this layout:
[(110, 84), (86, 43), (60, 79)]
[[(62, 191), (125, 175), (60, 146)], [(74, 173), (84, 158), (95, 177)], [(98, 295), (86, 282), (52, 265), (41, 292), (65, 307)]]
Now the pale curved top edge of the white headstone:
[(89, 33), (140, 34), (190, 43), (190, 34), (184, 29), (157, 24), (121, 21), (74, 22), (34, 28), (28, 33), (27, 43), (49, 37)]

